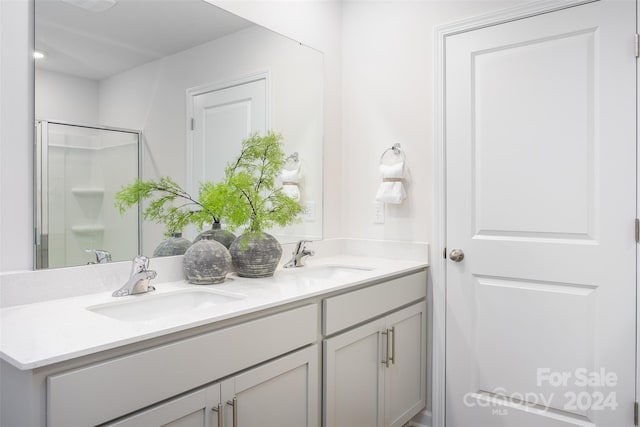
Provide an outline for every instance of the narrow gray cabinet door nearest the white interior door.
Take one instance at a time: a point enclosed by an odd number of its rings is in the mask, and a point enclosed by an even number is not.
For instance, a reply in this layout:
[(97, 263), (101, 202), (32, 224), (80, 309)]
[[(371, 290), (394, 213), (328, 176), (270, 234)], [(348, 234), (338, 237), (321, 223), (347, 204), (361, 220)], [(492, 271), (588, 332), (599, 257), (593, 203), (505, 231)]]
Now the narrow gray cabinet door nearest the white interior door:
[(385, 426), (400, 427), (425, 406), (426, 303), (386, 317), (391, 363), (385, 369)]

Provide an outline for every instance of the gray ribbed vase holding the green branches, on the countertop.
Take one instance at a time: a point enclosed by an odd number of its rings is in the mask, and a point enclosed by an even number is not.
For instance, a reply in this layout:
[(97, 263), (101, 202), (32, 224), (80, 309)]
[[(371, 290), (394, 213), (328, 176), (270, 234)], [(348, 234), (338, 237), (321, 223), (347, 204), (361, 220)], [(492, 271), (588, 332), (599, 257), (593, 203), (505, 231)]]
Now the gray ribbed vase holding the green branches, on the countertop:
[(233, 269), (241, 277), (270, 277), (282, 257), (282, 246), (270, 234), (243, 234), (229, 248)]

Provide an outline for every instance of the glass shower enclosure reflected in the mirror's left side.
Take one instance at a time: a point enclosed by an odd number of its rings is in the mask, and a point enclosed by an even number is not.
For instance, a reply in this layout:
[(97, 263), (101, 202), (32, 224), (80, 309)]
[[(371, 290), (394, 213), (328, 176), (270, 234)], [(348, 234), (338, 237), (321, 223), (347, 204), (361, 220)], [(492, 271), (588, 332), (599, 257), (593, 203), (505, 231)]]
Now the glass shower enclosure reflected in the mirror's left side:
[(115, 193), (140, 176), (139, 131), (40, 120), (35, 147), (35, 268), (112, 261), (140, 253), (140, 209)]

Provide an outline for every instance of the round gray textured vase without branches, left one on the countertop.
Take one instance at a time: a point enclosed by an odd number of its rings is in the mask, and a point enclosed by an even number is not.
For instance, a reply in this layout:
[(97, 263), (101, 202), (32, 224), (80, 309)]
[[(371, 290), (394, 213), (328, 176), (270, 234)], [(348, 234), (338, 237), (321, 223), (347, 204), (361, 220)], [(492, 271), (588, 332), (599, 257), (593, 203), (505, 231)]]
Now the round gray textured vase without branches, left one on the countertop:
[(231, 269), (231, 255), (222, 243), (204, 236), (187, 249), (182, 260), (189, 283), (222, 283)]

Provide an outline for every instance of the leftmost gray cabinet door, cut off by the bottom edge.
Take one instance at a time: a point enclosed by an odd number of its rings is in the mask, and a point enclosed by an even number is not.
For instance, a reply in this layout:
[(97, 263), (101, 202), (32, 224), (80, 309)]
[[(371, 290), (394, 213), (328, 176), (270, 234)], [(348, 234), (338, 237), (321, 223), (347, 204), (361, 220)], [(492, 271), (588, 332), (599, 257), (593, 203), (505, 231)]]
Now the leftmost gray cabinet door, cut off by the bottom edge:
[[(217, 426), (213, 403), (220, 401), (220, 385), (171, 399), (119, 421), (109, 427), (209, 427)], [(213, 419), (212, 419), (213, 418)]]

